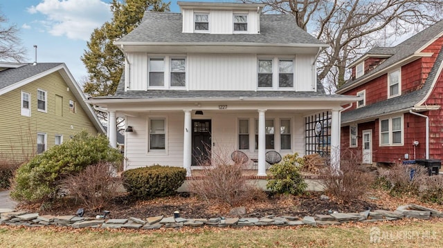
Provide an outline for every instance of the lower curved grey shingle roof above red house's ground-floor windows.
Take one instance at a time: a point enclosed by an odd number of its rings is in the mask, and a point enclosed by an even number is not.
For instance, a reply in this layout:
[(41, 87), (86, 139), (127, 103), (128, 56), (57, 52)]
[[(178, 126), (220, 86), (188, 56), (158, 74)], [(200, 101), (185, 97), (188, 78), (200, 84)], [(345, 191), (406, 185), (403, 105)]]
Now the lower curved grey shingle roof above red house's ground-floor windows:
[(419, 90), (415, 90), (411, 93), (406, 93), (404, 95), (399, 95), (398, 97), (393, 97), (382, 102), (377, 102), (375, 104), (370, 104), (362, 108), (356, 108), (352, 111), (345, 111), (341, 114), (341, 122), (353, 122), (358, 120), (365, 120), (375, 118), (379, 115), (385, 115), (388, 113), (394, 113), (399, 111), (408, 111), (408, 109), (413, 108), (415, 104), (419, 103), (424, 99), (426, 93), (431, 90), (433, 81), (438, 77), (438, 69), (443, 63), (443, 49), (435, 60), (435, 64), (431, 69), (426, 82), (424, 82), (423, 87)]

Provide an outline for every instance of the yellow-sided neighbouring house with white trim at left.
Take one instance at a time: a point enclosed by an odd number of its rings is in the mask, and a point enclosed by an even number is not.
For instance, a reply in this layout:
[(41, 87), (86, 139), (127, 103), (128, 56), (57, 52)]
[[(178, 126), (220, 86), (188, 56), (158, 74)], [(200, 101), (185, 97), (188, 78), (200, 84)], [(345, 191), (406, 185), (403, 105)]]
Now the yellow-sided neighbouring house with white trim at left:
[(23, 161), (75, 133), (105, 133), (64, 63), (0, 61), (0, 160)]

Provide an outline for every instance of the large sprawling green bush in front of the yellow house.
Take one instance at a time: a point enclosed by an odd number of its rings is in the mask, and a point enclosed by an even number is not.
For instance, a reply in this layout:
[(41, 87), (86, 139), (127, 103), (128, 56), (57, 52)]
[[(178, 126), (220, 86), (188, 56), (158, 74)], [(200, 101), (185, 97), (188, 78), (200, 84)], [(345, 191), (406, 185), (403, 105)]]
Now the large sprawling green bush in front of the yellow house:
[(42, 202), (57, 196), (60, 180), (79, 173), (90, 164), (119, 164), (123, 155), (109, 146), (105, 135), (82, 131), (60, 146), (53, 146), (17, 169), (10, 193), (18, 201)]

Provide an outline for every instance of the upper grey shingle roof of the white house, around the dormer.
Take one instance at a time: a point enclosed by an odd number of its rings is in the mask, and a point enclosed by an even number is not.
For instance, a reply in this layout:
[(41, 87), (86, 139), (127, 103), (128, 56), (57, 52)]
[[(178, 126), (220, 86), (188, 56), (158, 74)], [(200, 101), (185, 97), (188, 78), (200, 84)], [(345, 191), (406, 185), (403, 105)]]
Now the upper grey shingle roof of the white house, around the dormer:
[(146, 11), (141, 24), (118, 42), (323, 44), (296, 25), (292, 15), (260, 15), (260, 34), (183, 33), (180, 13)]

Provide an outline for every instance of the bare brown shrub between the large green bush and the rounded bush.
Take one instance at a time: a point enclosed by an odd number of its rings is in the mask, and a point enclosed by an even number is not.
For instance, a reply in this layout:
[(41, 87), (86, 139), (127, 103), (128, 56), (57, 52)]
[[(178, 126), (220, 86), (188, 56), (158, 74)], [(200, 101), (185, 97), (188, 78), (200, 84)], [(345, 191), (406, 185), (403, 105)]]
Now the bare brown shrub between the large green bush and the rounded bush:
[(120, 185), (113, 172), (108, 163), (99, 162), (87, 166), (77, 175), (70, 175), (62, 180), (62, 184), (69, 195), (80, 200), (87, 209), (100, 211), (114, 198)]

